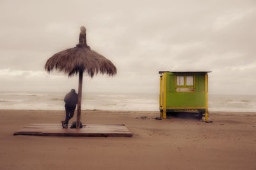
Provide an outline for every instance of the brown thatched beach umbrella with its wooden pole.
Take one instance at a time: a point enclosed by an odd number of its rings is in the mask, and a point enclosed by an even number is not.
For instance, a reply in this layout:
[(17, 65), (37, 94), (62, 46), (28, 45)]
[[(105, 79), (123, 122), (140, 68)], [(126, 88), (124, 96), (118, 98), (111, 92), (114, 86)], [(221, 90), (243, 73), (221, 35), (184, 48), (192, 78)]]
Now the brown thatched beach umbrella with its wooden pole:
[(86, 29), (82, 26), (79, 35), (79, 43), (76, 47), (54, 54), (45, 63), (45, 70), (47, 70), (47, 72), (51, 72), (54, 68), (60, 72), (67, 73), (68, 77), (79, 73), (76, 123), (76, 127), (79, 128), (81, 119), (83, 73), (86, 72), (90, 77), (93, 77), (93, 75), (98, 72), (115, 75), (116, 67), (109, 61), (109, 59), (106, 59), (94, 50), (91, 50), (86, 43)]

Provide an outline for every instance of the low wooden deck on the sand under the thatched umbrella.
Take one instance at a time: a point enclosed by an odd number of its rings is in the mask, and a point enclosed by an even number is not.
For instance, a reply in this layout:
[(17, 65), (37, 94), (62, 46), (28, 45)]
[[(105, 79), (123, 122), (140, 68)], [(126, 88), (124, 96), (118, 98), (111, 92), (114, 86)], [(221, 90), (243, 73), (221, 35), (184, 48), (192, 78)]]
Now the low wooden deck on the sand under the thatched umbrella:
[(83, 128), (62, 128), (61, 124), (34, 123), (13, 135), (48, 135), (48, 136), (91, 136), (91, 137), (131, 137), (132, 132), (124, 124), (83, 125)]

